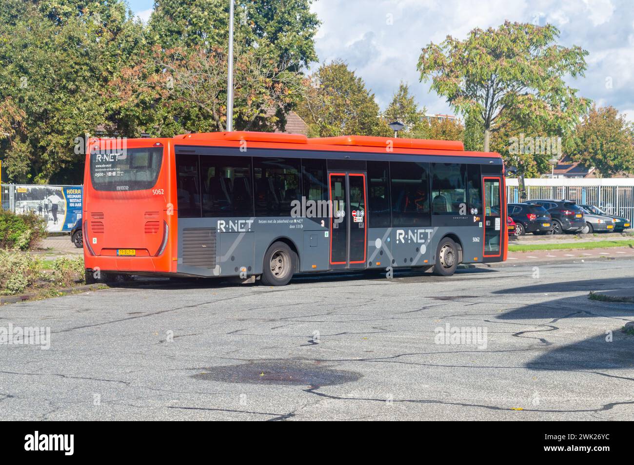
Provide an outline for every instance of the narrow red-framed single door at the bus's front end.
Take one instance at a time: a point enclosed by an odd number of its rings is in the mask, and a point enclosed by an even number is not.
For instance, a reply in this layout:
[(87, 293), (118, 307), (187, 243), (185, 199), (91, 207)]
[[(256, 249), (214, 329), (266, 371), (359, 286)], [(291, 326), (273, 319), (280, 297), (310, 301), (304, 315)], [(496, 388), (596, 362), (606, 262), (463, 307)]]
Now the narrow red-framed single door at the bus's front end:
[(501, 179), (495, 176), (483, 176), (484, 193), (484, 252), (486, 257), (500, 257), (502, 234), (507, 233), (507, 225), (502, 224)]

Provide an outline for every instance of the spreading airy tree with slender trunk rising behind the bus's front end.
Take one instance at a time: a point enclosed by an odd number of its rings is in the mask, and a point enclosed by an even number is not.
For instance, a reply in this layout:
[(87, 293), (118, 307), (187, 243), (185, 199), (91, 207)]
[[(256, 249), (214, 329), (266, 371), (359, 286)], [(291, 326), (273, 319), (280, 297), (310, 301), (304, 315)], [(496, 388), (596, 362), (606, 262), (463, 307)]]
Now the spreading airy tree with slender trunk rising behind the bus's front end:
[(460, 41), (450, 35), (420, 54), (421, 80), (461, 113), (478, 113), (483, 149), (491, 134), (510, 122), (539, 122), (543, 135), (561, 135), (588, 107), (567, 76), (583, 76), (587, 51), (555, 43), (559, 30), (505, 22), (498, 29), (474, 29)]

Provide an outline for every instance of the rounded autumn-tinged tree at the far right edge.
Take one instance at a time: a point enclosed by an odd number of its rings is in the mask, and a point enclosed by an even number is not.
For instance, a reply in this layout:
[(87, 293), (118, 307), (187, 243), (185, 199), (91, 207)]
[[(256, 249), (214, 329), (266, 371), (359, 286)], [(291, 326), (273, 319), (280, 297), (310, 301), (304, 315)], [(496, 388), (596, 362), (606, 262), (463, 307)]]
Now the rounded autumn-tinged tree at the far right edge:
[(569, 155), (600, 176), (634, 172), (634, 127), (612, 106), (592, 108), (576, 126)]

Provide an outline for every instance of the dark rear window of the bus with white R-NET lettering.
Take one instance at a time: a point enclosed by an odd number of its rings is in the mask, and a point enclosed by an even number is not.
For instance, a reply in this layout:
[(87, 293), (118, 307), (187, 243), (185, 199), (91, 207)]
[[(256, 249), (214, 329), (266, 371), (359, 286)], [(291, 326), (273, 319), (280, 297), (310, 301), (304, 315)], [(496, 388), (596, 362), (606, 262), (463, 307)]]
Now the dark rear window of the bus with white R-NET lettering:
[(163, 147), (95, 151), (90, 155), (90, 177), (98, 191), (141, 191), (157, 182)]

